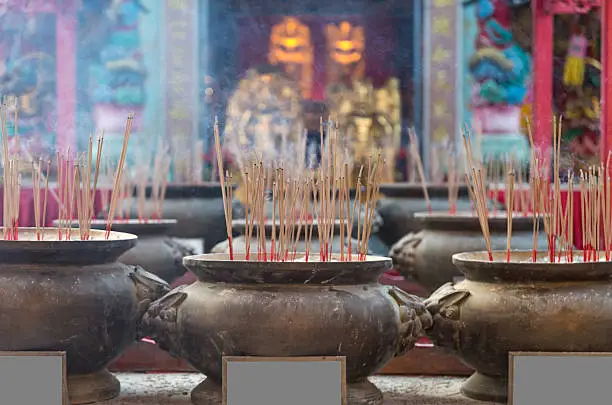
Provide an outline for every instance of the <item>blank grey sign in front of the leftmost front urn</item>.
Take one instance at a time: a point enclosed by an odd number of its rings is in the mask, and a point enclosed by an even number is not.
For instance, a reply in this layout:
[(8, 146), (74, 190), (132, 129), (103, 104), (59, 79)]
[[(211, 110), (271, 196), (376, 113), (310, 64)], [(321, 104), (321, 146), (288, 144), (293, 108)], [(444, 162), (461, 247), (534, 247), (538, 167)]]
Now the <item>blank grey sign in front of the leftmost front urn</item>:
[(0, 352), (0, 403), (66, 405), (64, 352)]

